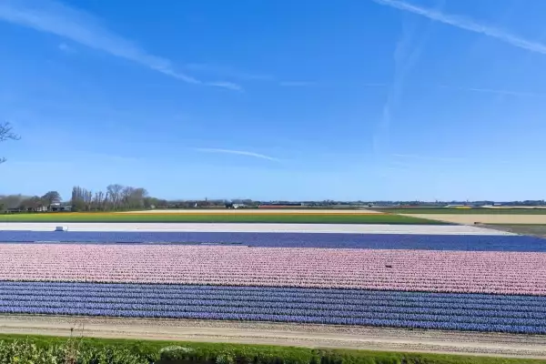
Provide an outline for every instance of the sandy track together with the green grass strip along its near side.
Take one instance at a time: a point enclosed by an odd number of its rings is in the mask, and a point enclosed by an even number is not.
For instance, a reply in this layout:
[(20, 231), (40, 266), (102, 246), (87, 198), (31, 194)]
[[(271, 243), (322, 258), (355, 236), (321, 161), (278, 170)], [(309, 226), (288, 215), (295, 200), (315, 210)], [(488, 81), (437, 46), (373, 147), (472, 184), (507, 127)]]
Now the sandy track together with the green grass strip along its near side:
[[(19, 320), (20, 322), (17, 322)], [(0, 339), (29, 338), (47, 345), (79, 337), (93, 346), (116, 345), (156, 354), (167, 346), (238, 351), (268, 357), (283, 354), (292, 363), (313, 362), (318, 353), (344, 362), (541, 363), (546, 338), (523, 335), (447, 333), (436, 330), (347, 328), (269, 323), (228, 325), (215, 321), (83, 319), (56, 316), (0, 316)], [(215, 328), (216, 326), (216, 328)], [(74, 329), (74, 332), (71, 331)], [(534, 343), (533, 343), (534, 339)], [(501, 342), (495, 342), (499, 340)], [(538, 344), (537, 344), (538, 343)], [(521, 349), (517, 349), (518, 346)], [(254, 354), (253, 354), (254, 355)], [(299, 358), (299, 360), (295, 360)], [(301, 360), (303, 359), (303, 360)], [(321, 360), (318, 360), (320, 362)], [(327, 361), (329, 362), (329, 361)], [(336, 361), (337, 362), (337, 361)]]

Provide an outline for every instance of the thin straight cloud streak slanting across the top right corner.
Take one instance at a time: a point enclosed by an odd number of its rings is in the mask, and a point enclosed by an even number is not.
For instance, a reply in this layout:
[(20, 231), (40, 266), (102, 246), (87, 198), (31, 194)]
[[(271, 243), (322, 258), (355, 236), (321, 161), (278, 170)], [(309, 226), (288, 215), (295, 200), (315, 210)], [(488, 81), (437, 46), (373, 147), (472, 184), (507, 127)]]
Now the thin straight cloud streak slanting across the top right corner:
[(440, 11), (434, 9), (428, 9), (425, 7), (420, 7), (418, 5), (412, 5), (404, 3), (398, 0), (372, 0), (379, 5), (390, 6), (402, 11), (413, 13), (416, 15), (421, 15), (428, 17), (431, 20), (437, 22), (456, 26), (460, 29), (468, 30), (470, 32), (478, 33), (481, 35), (487, 35), (492, 38), (498, 39), (501, 42), (507, 43), (509, 45), (516, 46), (521, 49), (525, 49), (531, 52), (540, 53), (546, 55), (546, 45), (540, 42), (534, 42), (525, 38), (522, 38), (518, 35), (512, 35), (510, 32), (496, 28), (490, 25), (483, 25), (475, 22), (469, 18), (460, 16), (460, 15), (448, 15), (441, 13)]

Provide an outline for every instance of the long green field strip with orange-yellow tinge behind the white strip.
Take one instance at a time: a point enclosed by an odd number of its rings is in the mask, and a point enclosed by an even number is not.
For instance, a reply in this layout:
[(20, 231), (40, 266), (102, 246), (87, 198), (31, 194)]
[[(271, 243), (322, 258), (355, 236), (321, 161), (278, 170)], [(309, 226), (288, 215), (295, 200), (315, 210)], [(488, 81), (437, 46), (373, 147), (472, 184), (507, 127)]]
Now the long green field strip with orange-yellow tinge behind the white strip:
[(283, 224), (435, 224), (417, 217), (392, 214), (115, 214), (51, 213), (6, 214), (0, 222), (200, 222), (200, 223), (283, 223)]

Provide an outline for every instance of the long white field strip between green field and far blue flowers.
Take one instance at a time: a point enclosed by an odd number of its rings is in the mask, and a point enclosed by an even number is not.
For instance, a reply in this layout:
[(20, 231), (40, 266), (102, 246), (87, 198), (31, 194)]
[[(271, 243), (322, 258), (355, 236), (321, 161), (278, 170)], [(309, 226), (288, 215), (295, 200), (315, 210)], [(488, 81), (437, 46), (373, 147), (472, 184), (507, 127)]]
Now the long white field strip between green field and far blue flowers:
[[(200, 223), (25, 223), (2, 222), (0, 230), (53, 231), (199, 231), (199, 232), (292, 232), (422, 235), (513, 235), (484, 227), (441, 225), (357, 225), (357, 224), (200, 224)], [(62, 234), (60, 232), (59, 234)]]

